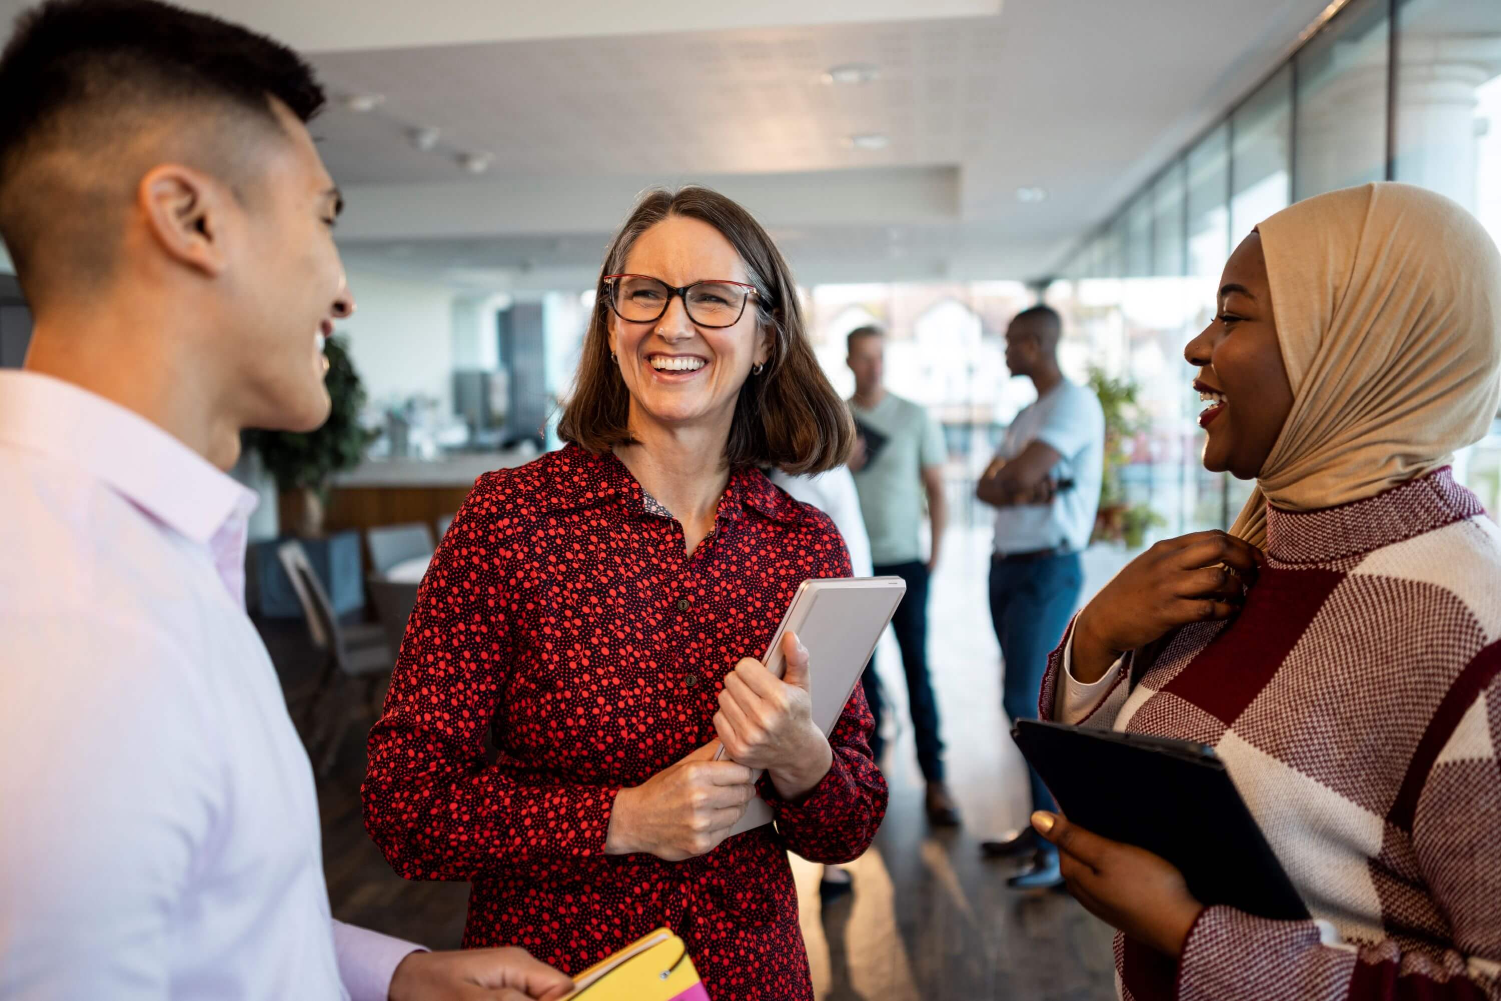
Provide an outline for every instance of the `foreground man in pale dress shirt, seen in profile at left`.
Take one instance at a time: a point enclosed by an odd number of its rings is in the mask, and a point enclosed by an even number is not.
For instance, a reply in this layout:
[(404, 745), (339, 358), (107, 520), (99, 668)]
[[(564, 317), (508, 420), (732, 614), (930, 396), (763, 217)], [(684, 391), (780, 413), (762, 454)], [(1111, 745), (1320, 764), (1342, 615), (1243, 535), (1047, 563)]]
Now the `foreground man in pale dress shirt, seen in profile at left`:
[[(243, 428), (329, 414), (354, 309), (290, 50), (54, 0), (0, 57), (0, 996), (557, 998), (521, 950), (333, 921), (312, 770), (243, 609)], [(539, 915), (545, 917), (545, 915)]]

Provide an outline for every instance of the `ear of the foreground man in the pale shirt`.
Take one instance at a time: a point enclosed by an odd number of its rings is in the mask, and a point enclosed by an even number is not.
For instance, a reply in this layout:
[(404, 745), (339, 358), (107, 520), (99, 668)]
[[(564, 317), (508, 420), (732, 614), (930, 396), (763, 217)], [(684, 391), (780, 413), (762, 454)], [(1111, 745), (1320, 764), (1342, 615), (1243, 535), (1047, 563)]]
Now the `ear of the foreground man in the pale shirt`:
[(228, 263), (228, 198), (222, 183), (180, 164), (153, 167), (137, 189), (146, 228), (162, 252), (209, 278), (221, 275)]

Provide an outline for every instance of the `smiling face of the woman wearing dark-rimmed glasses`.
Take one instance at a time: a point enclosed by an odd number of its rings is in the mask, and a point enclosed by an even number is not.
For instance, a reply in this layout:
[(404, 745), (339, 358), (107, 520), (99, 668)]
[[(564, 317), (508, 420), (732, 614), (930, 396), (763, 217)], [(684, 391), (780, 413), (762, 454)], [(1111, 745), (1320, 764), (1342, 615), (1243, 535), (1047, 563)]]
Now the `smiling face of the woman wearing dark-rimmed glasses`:
[[(668, 216), (642, 233), (621, 272), (647, 275), (672, 288), (707, 279), (749, 282), (744, 261), (714, 227)], [(699, 327), (674, 296), (654, 323), (629, 323), (611, 312), (609, 350), (630, 393), (630, 428), (702, 429), (729, 437), (740, 387), (764, 363), (769, 335), (755, 300), (732, 327)]]

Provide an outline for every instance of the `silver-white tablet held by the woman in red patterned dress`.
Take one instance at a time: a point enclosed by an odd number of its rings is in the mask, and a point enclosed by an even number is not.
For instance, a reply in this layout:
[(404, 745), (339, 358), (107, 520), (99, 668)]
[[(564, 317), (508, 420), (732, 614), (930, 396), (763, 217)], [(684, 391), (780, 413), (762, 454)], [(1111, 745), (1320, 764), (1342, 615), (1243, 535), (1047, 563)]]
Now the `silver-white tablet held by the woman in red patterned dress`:
[[(761, 663), (782, 677), (782, 636), (793, 632), (808, 647), (808, 686), (814, 696), (814, 722), (827, 735), (850, 701), (860, 674), (875, 653), (881, 632), (892, 621), (907, 593), (899, 576), (863, 576), (803, 581)], [(723, 749), (720, 747), (720, 753)], [(757, 779), (760, 779), (757, 773)], [(772, 807), (760, 797), (731, 834), (772, 822)]]

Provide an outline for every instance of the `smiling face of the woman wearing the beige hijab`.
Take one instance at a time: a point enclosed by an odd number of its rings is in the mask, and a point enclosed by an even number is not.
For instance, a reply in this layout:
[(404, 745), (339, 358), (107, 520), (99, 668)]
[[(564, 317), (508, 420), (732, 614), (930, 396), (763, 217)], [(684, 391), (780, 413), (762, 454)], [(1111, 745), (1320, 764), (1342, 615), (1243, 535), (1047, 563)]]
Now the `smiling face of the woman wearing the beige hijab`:
[(1199, 366), (1193, 387), (1205, 404), (1204, 468), (1255, 479), (1292, 410), (1259, 233), (1225, 263), (1214, 318), (1183, 356)]

